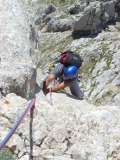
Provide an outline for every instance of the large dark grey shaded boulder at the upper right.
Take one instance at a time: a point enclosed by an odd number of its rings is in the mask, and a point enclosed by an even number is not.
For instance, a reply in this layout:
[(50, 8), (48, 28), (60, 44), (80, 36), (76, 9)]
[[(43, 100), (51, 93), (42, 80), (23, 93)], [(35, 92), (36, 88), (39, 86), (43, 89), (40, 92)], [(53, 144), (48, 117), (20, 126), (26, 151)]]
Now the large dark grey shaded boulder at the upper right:
[(108, 23), (115, 21), (115, 3), (113, 1), (91, 2), (80, 14), (73, 26), (73, 33), (96, 34), (105, 28)]

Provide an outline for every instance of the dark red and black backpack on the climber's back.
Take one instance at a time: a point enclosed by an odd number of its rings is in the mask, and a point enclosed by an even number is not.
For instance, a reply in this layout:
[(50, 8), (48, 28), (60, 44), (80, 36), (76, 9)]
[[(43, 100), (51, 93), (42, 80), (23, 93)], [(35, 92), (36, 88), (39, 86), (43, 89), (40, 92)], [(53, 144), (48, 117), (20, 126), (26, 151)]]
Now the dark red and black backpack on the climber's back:
[(62, 63), (64, 66), (76, 66), (76, 67), (81, 67), (83, 62), (83, 59), (78, 55), (75, 54), (72, 51), (66, 51), (61, 53), (60, 55), (60, 63)]

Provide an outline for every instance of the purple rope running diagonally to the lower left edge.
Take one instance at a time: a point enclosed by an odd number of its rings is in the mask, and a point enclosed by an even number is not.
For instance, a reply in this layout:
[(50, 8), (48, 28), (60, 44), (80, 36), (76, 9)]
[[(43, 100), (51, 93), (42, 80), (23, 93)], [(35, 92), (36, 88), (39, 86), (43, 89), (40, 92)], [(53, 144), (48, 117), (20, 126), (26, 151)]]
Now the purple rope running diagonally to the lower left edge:
[(25, 111), (22, 113), (22, 115), (20, 117), (18, 117), (17, 121), (14, 123), (13, 127), (8, 131), (8, 133), (6, 134), (6, 136), (3, 138), (3, 140), (0, 142), (0, 150), (2, 148), (4, 148), (4, 146), (6, 145), (6, 143), (10, 140), (10, 138), (13, 136), (13, 134), (15, 133), (16, 129), (19, 127), (19, 125), (21, 124), (22, 120), (24, 119), (24, 117), (26, 116), (26, 114), (30, 111), (30, 113), (33, 111), (35, 107), (35, 98), (33, 98), (32, 100), (30, 100), (28, 102), (27, 108), (25, 109)]

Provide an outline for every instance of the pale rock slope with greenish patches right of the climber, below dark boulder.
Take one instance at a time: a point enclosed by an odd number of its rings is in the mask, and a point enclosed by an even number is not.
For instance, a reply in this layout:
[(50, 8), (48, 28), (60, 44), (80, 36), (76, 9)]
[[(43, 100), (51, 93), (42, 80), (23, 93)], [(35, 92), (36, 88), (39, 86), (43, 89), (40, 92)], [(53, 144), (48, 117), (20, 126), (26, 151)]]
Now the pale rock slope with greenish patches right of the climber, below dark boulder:
[(97, 104), (116, 104), (114, 98), (119, 94), (119, 38), (119, 30), (111, 26), (96, 38), (73, 41), (70, 47), (83, 56), (83, 88), (87, 97)]

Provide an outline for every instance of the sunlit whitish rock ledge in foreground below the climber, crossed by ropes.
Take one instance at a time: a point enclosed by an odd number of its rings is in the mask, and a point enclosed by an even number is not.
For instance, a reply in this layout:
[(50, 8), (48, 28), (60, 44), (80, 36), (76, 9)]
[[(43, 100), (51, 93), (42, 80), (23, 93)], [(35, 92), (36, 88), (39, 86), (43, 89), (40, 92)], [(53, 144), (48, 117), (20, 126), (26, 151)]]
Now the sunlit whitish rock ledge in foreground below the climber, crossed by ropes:
[[(119, 106), (96, 108), (84, 100), (76, 101), (60, 93), (52, 95), (51, 106), (49, 96), (45, 98), (42, 93), (37, 95), (32, 128), (33, 159), (119, 159)], [(61, 99), (64, 103), (61, 103)], [(16, 107), (18, 101), (21, 107)], [(11, 127), (11, 122), (17, 116), (16, 111), (19, 110), (19, 114), (24, 111), (25, 103), (24, 99), (13, 94), (0, 101), (4, 115), (0, 121), (4, 124), (1, 128), (4, 132), (0, 132), (0, 137), (7, 133), (5, 124)], [(16, 146), (14, 153), (20, 160), (29, 157), (28, 119), (29, 116), (7, 144), (8, 147)], [(26, 129), (23, 131), (23, 128)]]

